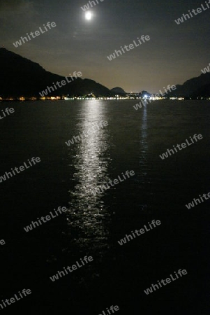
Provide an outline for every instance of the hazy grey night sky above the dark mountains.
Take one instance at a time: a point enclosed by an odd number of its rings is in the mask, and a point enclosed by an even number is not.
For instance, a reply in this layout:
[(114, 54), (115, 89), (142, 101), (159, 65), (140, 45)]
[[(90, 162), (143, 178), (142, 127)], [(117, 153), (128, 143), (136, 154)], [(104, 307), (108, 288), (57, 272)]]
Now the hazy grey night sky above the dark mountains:
[[(81, 71), (108, 88), (157, 92), (182, 84), (210, 62), (210, 9), (177, 25), (174, 20), (205, 1), (98, 0), (85, 20), (87, 0), (0, 0), (1, 45), (38, 62), (47, 71), (68, 76)], [(15, 48), (13, 42), (47, 22), (57, 27)], [(109, 61), (120, 46), (137, 37), (150, 41)]]

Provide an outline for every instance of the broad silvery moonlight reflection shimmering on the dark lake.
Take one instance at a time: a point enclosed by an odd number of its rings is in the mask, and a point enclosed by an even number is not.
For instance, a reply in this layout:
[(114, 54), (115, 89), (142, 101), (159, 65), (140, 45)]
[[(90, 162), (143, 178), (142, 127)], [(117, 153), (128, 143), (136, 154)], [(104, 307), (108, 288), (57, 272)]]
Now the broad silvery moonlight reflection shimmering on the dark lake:
[(104, 248), (107, 246), (109, 230), (107, 223), (110, 214), (103, 202), (103, 194), (94, 196), (93, 192), (99, 185), (109, 180), (107, 167), (110, 156), (107, 153), (109, 146), (108, 129), (93, 129), (93, 123), (105, 120), (100, 104), (93, 102), (84, 113), (84, 120), (79, 128), (88, 137), (70, 147), (75, 173), (74, 189), (70, 193), (69, 225), (70, 235), (74, 235), (79, 246), (87, 248)]

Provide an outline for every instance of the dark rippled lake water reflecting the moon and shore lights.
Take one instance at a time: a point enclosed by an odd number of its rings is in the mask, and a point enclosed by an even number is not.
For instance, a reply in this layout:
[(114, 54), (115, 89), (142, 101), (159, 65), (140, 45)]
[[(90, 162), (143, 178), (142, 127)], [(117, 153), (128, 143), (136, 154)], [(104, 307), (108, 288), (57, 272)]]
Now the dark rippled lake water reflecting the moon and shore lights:
[[(33, 157), (41, 162), (0, 183), (1, 298), (31, 295), (5, 314), (210, 314), (210, 102), (136, 101), (1, 103), (0, 176)], [(67, 146), (93, 123), (103, 130)], [(194, 134), (203, 139), (161, 160)], [(93, 196), (98, 186), (130, 177)], [(30, 232), (24, 227), (59, 206), (68, 212)], [(120, 246), (153, 219), (161, 225)], [(93, 261), (57, 281), (50, 276), (85, 255)], [(188, 274), (146, 295), (144, 290), (186, 269)], [(108, 314), (108, 313), (106, 313)], [(104, 314), (103, 314), (104, 315)]]

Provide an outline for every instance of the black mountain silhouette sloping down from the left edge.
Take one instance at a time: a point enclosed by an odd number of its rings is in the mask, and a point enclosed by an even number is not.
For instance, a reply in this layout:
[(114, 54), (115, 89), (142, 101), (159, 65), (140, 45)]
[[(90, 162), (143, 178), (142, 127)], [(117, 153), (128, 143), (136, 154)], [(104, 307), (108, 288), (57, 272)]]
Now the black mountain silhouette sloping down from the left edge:
[[(0, 97), (40, 97), (39, 92), (46, 90), (53, 83), (66, 80), (65, 77), (43, 69), (36, 62), (21, 57), (6, 48), (0, 48)], [(71, 80), (71, 78), (68, 78)], [(62, 87), (57, 87), (47, 96), (85, 96), (93, 93), (96, 96), (112, 96), (107, 87), (87, 78), (77, 78)]]

